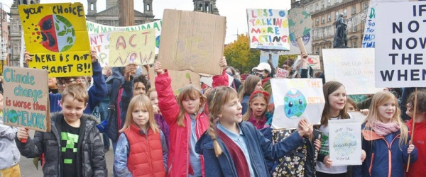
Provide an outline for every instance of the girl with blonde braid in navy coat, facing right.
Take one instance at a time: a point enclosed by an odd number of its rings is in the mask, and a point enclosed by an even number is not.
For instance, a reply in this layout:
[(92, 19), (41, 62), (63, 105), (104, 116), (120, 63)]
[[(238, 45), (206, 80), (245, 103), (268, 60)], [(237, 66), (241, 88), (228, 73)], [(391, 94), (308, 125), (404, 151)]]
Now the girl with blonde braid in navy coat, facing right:
[(205, 176), (271, 176), (265, 159), (279, 159), (304, 144), (312, 125), (300, 120), (293, 135), (272, 144), (250, 122), (242, 121), (238, 94), (229, 86), (207, 96), (210, 127), (198, 140), (195, 151), (204, 157)]

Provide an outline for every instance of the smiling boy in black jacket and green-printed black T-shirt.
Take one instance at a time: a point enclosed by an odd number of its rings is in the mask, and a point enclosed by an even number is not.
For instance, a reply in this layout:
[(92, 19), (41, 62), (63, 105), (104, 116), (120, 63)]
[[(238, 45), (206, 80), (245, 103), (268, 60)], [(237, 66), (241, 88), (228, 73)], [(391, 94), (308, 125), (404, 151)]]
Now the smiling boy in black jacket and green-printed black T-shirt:
[(45, 155), (44, 176), (107, 176), (96, 118), (83, 115), (88, 95), (81, 84), (70, 84), (62, 92), (62, 112), (50, 115), (50, 132), (35, 132), (31, 139), (19, 128), (16, 146), (27, 158)]

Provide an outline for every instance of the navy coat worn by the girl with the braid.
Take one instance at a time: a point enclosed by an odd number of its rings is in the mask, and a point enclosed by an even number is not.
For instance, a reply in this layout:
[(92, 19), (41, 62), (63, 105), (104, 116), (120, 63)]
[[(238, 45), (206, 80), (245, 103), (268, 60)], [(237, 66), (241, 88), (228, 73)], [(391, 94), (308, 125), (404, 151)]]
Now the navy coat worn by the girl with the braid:
[[(299, 133), (294, 132), (281, 142), (272, 144), (269, 139), (263, 137), (263, 134), (256, 130), (256, 127), (251, 122), (243, 121), (239, 125), (241, 125), (241, 131), (246, 137), (251, 165), (256, 176), (271, 176), (265, 159), (278, 160), (305, 143)], [(219, 157), (214, 154), (213, 140), (208, 131), (204, 132), (195, 146), (195, 152), (204, 157), (204, 163), (206, 164), (204, 166), (205, 176), (237, 176), (234, 161), (232, 161), (224, 142), (219, 137), (217, 137), (217, 142), (223, 151)]]

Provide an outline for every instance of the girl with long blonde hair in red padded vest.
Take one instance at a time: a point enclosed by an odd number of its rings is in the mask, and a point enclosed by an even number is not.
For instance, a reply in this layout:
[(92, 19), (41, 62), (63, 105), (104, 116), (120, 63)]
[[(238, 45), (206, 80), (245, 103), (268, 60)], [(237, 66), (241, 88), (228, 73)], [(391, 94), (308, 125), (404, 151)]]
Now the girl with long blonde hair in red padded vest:
[(117, 176), (165, 176), (168, 148), (145, 95), (131, 98), (114, 153)]

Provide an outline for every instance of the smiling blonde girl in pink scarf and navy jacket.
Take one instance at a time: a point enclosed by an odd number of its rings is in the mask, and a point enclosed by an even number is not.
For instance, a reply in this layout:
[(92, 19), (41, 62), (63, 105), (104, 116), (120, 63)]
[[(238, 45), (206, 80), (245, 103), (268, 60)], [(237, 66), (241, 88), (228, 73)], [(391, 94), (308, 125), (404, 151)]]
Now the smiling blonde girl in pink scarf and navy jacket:
[(397, 98), (389, 91), (374, 94), (362, 125), (362, 137), (366, 161), (354, 166), (354, 177), (404, 176), (408, 156), (410, 164), (417, 160), (417, 149), (408, 144), (408, 127), (400, 119)]

